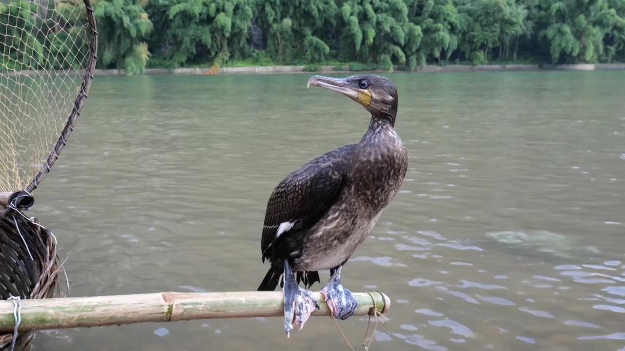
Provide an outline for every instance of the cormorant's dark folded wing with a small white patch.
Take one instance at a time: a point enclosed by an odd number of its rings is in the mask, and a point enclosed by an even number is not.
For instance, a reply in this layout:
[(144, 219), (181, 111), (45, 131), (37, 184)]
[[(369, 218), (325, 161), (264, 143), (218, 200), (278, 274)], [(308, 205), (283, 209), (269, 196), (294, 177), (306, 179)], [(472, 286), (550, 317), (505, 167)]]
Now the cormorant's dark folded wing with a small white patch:
[(267, 202), (262, 228), (262, 262), (282, 235), (312, 227), (331, 207), (344, 184), (343, 167), (356, 145), (328, 152), (282, 180)]

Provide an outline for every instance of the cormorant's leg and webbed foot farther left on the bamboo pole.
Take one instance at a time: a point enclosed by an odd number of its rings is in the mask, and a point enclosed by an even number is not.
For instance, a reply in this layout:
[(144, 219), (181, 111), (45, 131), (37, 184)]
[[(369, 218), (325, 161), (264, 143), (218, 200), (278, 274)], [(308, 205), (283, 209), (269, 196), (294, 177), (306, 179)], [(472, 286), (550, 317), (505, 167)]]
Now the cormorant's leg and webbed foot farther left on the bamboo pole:
[(284, 330), (286, 337), (291, 336), (293, 325), (299, 325), (299, 330), (310, 317), (313, 309), (319, 309), (317, 300), (311, 292), (302, 289), (297, 284), (289, 261), (284, 260)]

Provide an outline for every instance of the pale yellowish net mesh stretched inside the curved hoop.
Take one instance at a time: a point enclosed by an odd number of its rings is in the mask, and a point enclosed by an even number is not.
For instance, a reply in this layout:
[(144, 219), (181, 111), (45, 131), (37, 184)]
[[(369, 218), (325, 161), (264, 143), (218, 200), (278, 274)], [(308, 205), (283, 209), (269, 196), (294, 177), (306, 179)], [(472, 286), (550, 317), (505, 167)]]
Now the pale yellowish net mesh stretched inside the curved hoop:
[(56, 161), (86, 97), (94, 32), (88, 1), (0, 0), (0, 192), (34, 189)]

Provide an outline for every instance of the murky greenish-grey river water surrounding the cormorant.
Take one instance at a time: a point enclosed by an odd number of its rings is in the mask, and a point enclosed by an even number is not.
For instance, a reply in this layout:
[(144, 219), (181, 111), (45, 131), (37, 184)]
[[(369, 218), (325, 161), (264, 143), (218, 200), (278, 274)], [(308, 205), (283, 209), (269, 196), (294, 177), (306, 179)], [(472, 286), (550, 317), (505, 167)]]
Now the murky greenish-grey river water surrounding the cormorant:
[[(352, 291), (391, 297), (371, 350), (625, 347), (625, 72), (387, 76), (409, 170), (342, 275)], [(96, 77), (29, 212), (69, 256), (71, 295), (255, 290), (274, 185), (359, 141), (369, 121), (346, 97), (307, 90), (308, 77)], [(339, 325), (362, 349), (366, 319)], [(348, 349), (329, 317), (289, 340), (281, 318), (35, 340), (70, 351)]]

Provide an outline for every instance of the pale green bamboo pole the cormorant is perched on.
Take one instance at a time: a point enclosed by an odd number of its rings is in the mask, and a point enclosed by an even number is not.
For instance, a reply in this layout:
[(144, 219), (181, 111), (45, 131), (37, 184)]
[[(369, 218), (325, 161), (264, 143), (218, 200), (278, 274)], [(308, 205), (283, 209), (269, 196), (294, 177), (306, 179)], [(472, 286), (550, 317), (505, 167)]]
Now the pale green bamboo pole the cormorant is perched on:
[[(386, 313), (391, 300), (381, 292), (355, 292), (354, 315), (372, 314), (373, 307)], [(312, 292), (319, 310), (312, 315), (330, 315), (321, 292)], [(15, 326), (14, 303), (0, 300), (0, 334)], [(21, 300), (19, 330), (96, 327), (143, 322), (176, 322), (193, 319), (284, 316), (284, 293), (207, 292), (63, 297)]]

